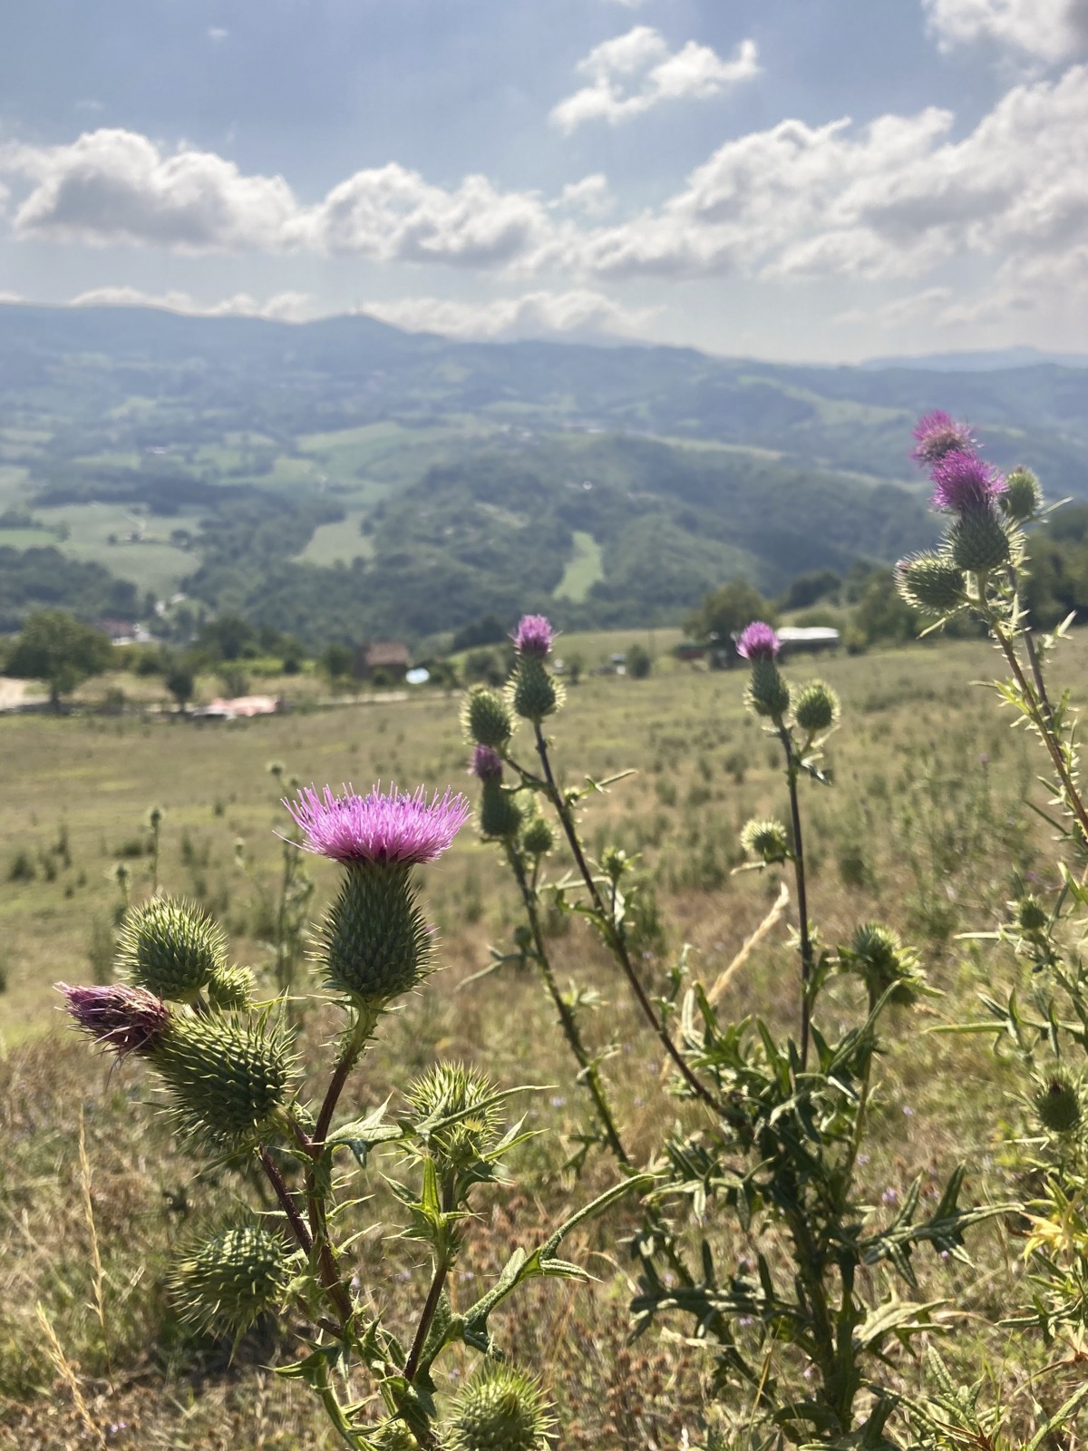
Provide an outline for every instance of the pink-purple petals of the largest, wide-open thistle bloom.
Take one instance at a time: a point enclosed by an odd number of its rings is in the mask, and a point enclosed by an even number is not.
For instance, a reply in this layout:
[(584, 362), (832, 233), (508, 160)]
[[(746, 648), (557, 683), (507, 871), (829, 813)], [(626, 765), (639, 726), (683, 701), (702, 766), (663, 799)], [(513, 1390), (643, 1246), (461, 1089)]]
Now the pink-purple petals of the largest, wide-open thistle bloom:
[(329, 786), (318, 795), (305, 786), (297, 801), (283, 802), (302, 831), (308, 852), (334, 862), (371, 862), (376, 865), (413, 865), (441, 856), (469, 818), (467, 800), (447, 788), (435, 791), (428, 802), (421, 786), (415, 795), (390, 785), (386, 795), (379, 786), (360, 797), (344, 786), (335, 797)]

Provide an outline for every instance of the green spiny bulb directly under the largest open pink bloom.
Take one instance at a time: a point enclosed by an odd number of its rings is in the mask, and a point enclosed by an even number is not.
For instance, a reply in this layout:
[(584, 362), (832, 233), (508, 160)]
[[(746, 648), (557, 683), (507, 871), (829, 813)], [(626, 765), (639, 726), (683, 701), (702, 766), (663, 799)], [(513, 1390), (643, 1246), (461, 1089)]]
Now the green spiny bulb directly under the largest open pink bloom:
[(348, 865), (321, 942), (334, 991), (374, 1006), (413, 988), (429, 969), (432, 945), (411, 868)]

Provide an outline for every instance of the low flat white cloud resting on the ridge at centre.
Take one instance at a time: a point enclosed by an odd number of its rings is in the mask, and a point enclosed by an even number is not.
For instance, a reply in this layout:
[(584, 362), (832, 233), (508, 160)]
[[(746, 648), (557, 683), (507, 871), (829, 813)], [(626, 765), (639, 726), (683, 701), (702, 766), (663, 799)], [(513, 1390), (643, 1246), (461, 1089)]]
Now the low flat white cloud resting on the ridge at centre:
[(622, 308), (603, 293), (589, 290), (529, 292), (485, 303), (402, 297), (364, 303), (358, 311), (409, 332), (489, 341), (570, 334), (627, 337), (640, 332), (656, 313), (656, 309)]

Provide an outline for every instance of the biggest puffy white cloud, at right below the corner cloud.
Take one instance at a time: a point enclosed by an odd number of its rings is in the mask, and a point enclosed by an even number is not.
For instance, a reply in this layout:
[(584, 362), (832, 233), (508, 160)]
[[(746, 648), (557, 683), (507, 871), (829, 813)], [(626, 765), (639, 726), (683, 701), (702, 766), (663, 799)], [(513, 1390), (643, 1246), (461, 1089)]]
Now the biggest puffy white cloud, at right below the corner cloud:
[(1088, 226), (1088, 68), (1010, 90), (959, 141), (928, 107), (721, 147), (663, 207), (579, 241), (599, 276), (920, 276), (962, 255), (1060, 255)]

